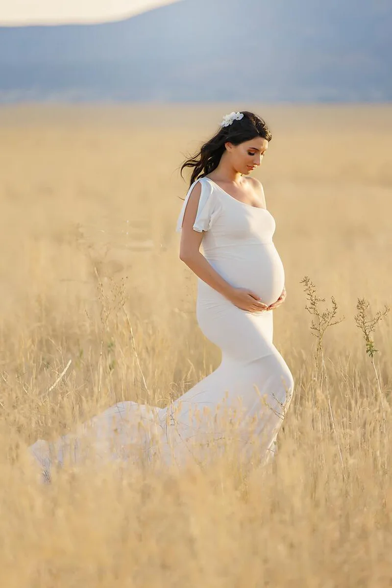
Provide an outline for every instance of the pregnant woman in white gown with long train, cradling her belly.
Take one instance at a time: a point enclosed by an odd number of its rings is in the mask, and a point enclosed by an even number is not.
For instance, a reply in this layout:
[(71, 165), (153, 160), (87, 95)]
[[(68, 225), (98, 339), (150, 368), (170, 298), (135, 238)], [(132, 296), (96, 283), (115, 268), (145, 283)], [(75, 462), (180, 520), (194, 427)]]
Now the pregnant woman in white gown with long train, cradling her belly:
[(232, 112), (181, 168), (193, 171), (176, 226), (180, 259), (198, 277), (197, 322), (222, 350), (220, 365), (168, 407), (120, 402), (75, 433), (38, 440), (29, 449), (46, 477), (53, 463), (92, 455), (205, 463), (231, 440), (253, 459), (256, 448), (257, 462), (273, 454), (294, 382), (273, 345), (273, 310), (286, 298), (275, 221), (262, 184), (249, 177), (271, 138), (263, 119)]

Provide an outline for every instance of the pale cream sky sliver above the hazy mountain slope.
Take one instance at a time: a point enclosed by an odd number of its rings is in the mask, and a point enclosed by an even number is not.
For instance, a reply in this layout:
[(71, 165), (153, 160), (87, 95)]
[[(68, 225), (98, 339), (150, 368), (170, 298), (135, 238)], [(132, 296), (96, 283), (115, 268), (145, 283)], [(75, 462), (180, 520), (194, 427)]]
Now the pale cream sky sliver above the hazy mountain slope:
[(100, 22), (177, 0), (0, 0), (0, 25)]

